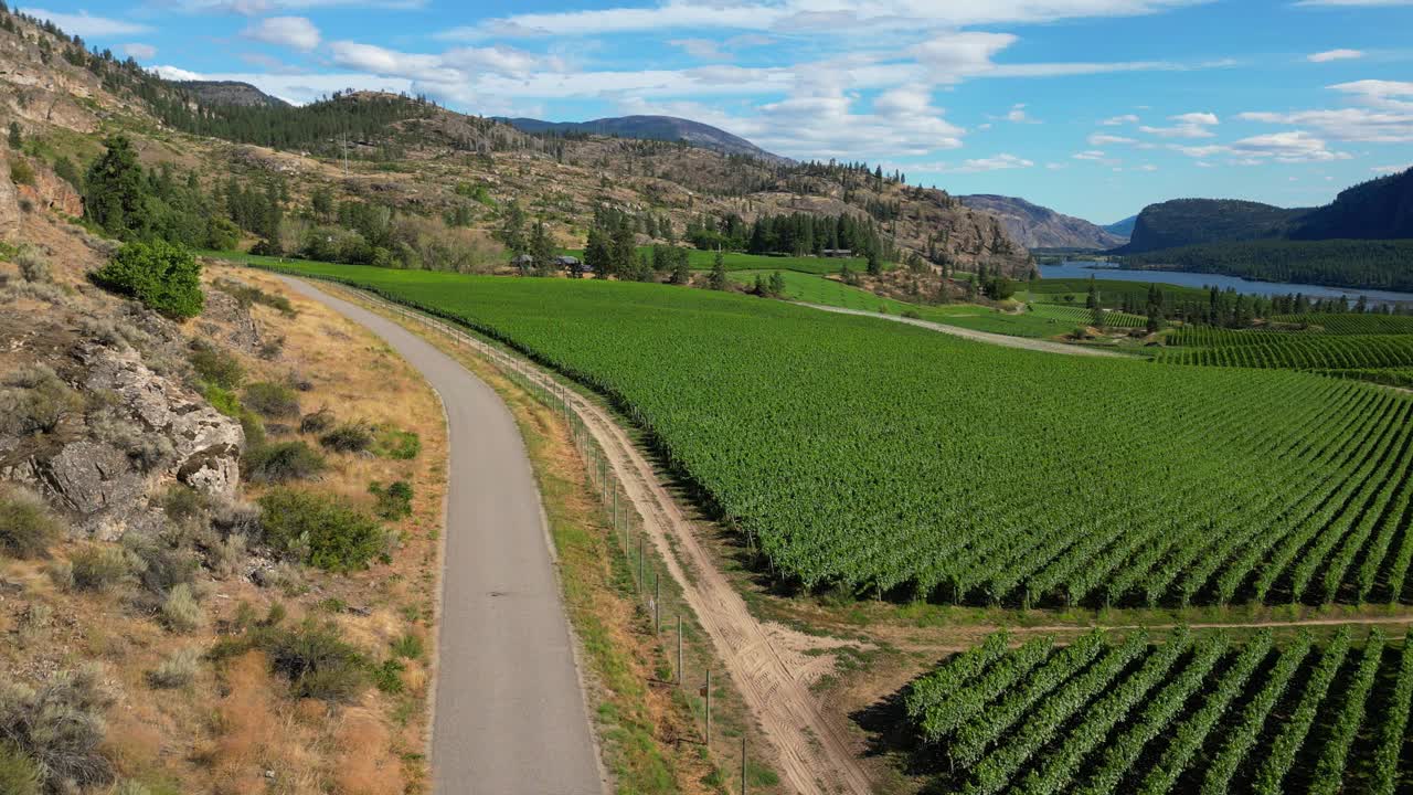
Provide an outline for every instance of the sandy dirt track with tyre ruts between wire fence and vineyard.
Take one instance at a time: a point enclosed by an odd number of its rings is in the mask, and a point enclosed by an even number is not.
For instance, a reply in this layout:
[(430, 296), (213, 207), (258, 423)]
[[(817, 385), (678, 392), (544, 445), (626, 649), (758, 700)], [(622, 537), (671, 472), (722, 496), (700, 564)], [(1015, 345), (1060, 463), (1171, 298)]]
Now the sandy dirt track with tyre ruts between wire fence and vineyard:
[(667, 562), (668, 573), (681, 587), (698, 622), (711, 635), (736, 689), (771, 740), (781, 778), (801, 795), (868, 795), (873, 791), (852, 750), (842, 716), (829, 717), (810, 693), (814, 672), (807, 665), (788, 662), (797, 655), (777, 645), (777, 638), (784, 634), (781, 628), (764, 625), (750, 614), (740, 594), (716, 569), (711, 553), (697, 540), (691, 522), (661, 487), (651, 464), (605, 409), (567, 390), (538, 366), (485, 345), (449, 324), (370, 296), (360, 297), (472, 345), (503, 369), (554, 390), (584, 420), (605, 451), (616, 478), (643, 518), (643, 529)]

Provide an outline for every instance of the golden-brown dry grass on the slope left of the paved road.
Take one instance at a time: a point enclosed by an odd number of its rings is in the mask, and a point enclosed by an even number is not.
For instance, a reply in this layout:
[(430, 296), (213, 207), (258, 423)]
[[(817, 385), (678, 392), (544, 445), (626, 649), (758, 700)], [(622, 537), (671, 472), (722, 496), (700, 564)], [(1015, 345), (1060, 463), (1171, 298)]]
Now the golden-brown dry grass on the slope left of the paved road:
[[(78, 280), (81, 270), (72, 266), (82, 257), (62, 256), (62, 242), (55, 233), (55, 277)], [(374, 563), (372, 570), (352, 576), (304, 571), (297, 583), (266, 588), (232, 576), (235, 570), (219, 579), (203, 571), (195, 590), (206, 620), (189, 634), (177, 634), (153, 608), (134, 603), (130, 584), (120, 583), (106, 593), (59, 587), (49, 570), (62, 569), (86, 545), (57, 543), (52, 560), (0, 557), (0, 580), (21, 588), (16, 596), (7, 593), (0, 607), (0, 632), (10, 638), (0, 644), (0, 679), (41, 680), (52, 671), (72, 668), (75, 661), (103, 661), (117, 695), (107, 714), (105, 754), (122, 778), (154, 792), (425, 791), (424, 663), (408, 661), (401, 695), (369, 690), (350, 707), (294, 700), (283, 680), (268, 676), (267, 662), (259, 655), (216, 666), (202, 659), (189, 683), (153, 690), (151, 672), (178, 649), (211, 648), (242, 604), (264, 615), (271, 604), (281, 603), (288, 621), (305, 615), (332, 620), (345, 639), (374, 661), (391, 654), (396, 638), (434, 632), (447, 450), (435, 393), (374, 337), (319, 304), (298, 300), (281, 283), (246, 270), (211, 272), (209, 279), (239, 279), (284, 294), (298, 310), (288, 318), (268, 307), (253, 308), (264, 335), (284, 337), (285, 345), (274, 361), (242, 355), (247, 382), (284, 382), (294, 373), (311, 385), (300, 393), (305, 410), (331, 406), (341, 422), (390, 423), (421, 437), (421, 454), (411, 461), (329, 455), (329, 470), (322, 482), (314, 484), (365, 509), (373, 505), (370, 481), (403, 480), (414, 485), (413, 515), (389, 523), (401, 539), (391, 564)], [(278, 439), (317, 444), (312, 436), (297, 433)], [(259, 491), (247, 488), (243, 498), (253, 499)], [(31, 611), (31, 605), (40, 607)], [(332, 613), (331, 605), (342, 611)], [(42, 621), (30, 620), (32, 614)], [(366, 778), (367, 788), (357, 789), (355, 778)]]

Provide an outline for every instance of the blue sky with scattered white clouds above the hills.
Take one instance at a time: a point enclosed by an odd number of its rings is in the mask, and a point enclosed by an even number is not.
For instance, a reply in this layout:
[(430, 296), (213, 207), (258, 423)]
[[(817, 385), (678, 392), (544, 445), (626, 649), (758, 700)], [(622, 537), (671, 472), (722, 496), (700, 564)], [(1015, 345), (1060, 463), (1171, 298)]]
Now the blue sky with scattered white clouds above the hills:
[(1324, 204), (1413, 166), (1413, 0), (42, 0), (168, 76), (291, 102), (687, 116), (1096, 222)]

